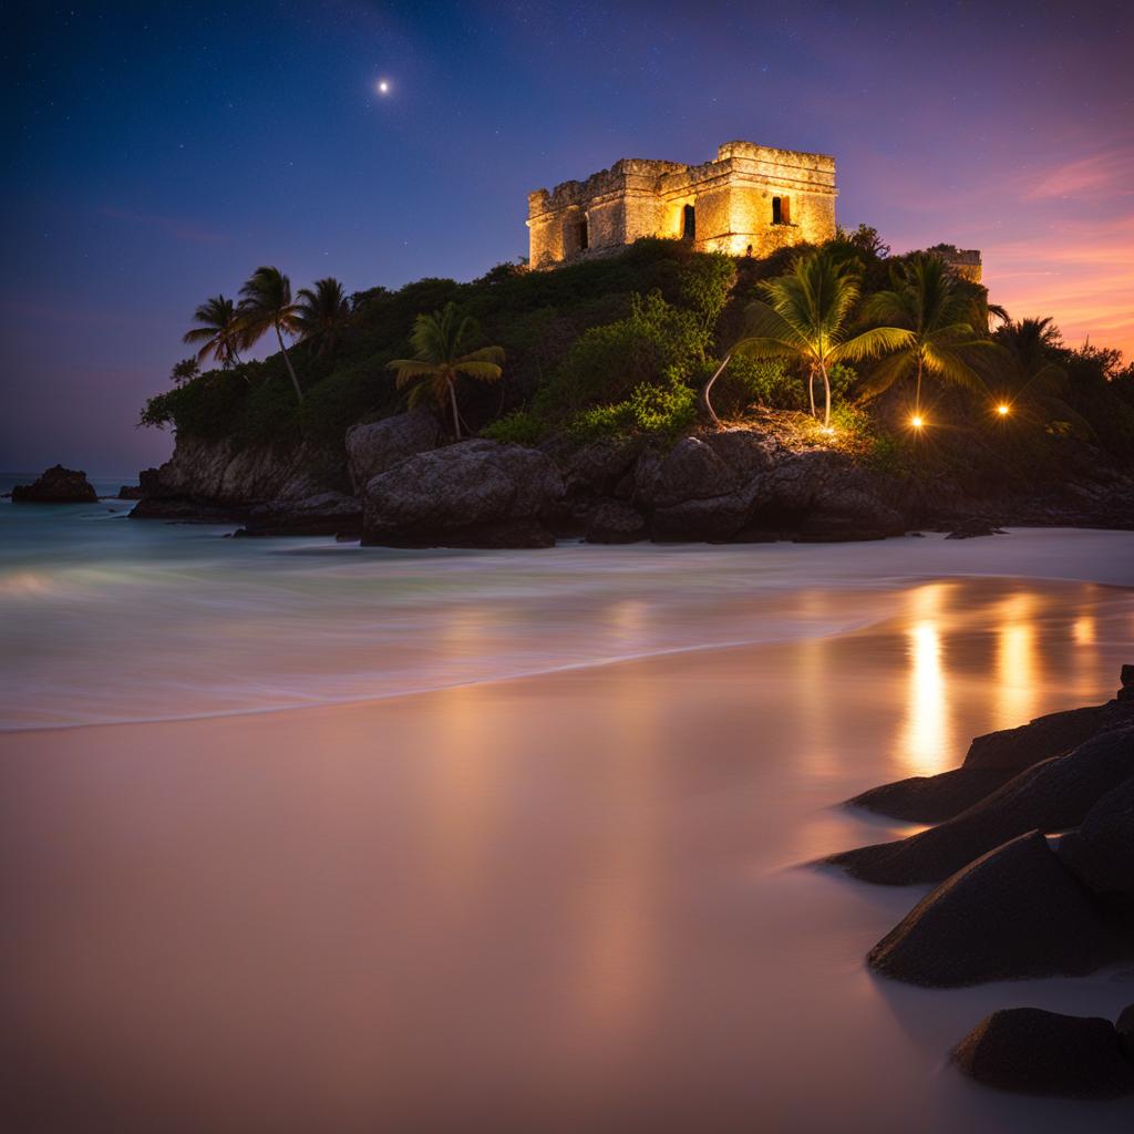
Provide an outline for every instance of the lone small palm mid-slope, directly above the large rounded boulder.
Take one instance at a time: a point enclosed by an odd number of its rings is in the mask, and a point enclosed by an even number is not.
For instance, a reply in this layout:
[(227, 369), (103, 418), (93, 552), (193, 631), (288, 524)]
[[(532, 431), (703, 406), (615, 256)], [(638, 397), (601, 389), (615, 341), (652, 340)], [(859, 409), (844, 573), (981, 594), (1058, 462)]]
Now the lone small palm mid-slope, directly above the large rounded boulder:
[(501, 374), (502, 347), (481, 347), (467, 350), (469, 340), (477, 333), (476, 322), (462, 315), (455, 303), (447, 303), (432, 315), (418, 315), (409, 342), (414, 348), (413, 358), (395, 358), (387, 366), (397, 372), (400, 390), (417, 379), (409, 395), (409, 405), (415, 406), (423, 398), (432, 396), (438, 406), (445, 406), (448, 398), (452, 408), (452, 426), (460, 440), (460, 412), (457, 409), (457, 378), (466, 374), (479, 382), (496, 382)]

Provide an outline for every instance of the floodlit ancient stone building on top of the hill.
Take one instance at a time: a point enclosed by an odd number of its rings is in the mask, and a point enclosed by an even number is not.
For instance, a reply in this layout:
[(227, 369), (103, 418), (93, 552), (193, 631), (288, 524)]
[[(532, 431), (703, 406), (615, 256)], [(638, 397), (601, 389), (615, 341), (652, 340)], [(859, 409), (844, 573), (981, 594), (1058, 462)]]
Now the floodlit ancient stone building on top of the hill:
[(726, 142), (703, 166), (623, 158), (527, 197), (533, 268), (616, 252), (643, 236), (767, 256), (835, 235), (835, 159)]

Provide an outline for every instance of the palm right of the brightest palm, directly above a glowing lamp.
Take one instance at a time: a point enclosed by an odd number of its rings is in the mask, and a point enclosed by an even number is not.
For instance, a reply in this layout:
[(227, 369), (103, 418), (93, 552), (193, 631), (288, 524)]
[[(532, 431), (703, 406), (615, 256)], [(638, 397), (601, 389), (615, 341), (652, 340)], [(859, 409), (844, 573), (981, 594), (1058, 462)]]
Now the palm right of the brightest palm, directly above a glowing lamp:
[[(973, 366), (978, 355), (996, 352), (987, 335), (975, 328), (988, 323), (987, 307), (972, 285), (959, 280), (949, 265), (929, 253), (916, 253), (890, 270), (891, 287), (877, 291), (863, 305), (863, 315), (909, 332), (905, 345), (883, 358), (868, 380), (865, 393), (881, 393), (900, 379), (915, 375), (914, 413), (921, 415), (922, 376), (931, 374), (973, 390), (984, 380)], [(982, 310), (983, 307), (983, 310)]]

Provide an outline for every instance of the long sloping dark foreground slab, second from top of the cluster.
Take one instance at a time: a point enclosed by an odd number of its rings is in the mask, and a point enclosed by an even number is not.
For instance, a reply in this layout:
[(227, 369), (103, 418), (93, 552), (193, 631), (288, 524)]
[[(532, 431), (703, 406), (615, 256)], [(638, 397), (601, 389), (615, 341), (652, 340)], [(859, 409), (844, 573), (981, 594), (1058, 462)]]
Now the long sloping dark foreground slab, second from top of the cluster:
[(892, 843), (827, 861), (886, 886), (939, 882), (1024, 831), (1077, 827), (1108, 792), (1134, 777), (1134, 726), (1101, 733), (1009, 780), (959, 815)]

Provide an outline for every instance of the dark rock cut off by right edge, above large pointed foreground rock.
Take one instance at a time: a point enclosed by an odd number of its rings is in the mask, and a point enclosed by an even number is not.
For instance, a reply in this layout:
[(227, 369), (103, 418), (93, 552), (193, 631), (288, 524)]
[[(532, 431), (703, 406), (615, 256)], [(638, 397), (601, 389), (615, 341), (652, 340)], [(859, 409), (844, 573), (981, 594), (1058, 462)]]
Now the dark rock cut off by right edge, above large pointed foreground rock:
[(1056, 853), (1108, 906), (1134, 913), (1134, 777), (1108, 792)]

